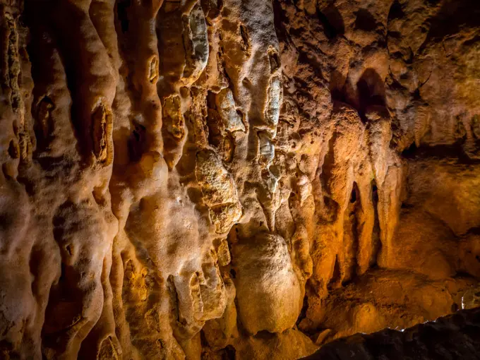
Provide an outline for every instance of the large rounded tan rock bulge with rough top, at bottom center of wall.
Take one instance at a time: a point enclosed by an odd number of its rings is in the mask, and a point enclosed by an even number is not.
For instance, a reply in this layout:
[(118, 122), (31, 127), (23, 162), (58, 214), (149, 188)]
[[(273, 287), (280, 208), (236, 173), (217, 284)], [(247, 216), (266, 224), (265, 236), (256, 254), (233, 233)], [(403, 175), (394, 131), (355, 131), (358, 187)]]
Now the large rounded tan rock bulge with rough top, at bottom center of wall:
[(301, 289), (287, 244), (274, 234), (258, 234), (233, 248), (241, 323), (252, 335), (292, 328), (301, 309)]

